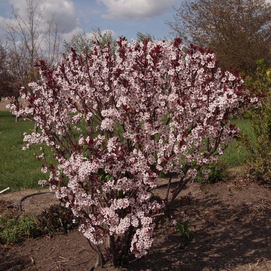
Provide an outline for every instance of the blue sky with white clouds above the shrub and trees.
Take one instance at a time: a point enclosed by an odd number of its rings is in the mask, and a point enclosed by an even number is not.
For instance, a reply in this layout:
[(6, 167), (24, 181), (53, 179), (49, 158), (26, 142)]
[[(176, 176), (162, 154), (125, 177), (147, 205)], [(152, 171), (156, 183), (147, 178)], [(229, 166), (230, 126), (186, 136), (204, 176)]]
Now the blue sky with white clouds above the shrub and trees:
[[(170, 28), (165, 21), (173, 21), (175, 10), (183, 0), (36, 0), (43, 11), (44, 22), (54, 13), (63, 38), (70, 40), (73, 34), (100, 27), (112, 31), (113, 37), (136, 39), (137, 31), (150, 33), (156, 39), (168, 36)], [(5, 23), (11, 22), (11, 5), (22, 17), (26, 17), (25, 0), (0, 0), (0, 40), (5, 40)]]

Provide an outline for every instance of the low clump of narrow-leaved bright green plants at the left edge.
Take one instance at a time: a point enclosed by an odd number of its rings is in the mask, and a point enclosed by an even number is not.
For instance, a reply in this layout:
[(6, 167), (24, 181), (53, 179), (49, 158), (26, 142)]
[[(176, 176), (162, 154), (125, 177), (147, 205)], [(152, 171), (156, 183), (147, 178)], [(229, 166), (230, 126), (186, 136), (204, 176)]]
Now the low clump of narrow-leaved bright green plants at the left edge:
[(22, 237), (40, 233), (40, 225), (35, 215), (21, 217), (19, 220), (0, 217), (0, 244), (16, 243)]

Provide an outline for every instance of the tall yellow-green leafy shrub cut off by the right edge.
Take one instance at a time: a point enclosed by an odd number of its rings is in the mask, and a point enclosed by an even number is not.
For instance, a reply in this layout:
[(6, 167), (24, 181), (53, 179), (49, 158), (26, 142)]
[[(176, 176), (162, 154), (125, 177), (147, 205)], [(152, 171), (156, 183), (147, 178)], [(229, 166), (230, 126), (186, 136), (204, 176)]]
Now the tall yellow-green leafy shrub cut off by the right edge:
[(255, 134), (255, 141), (251, 135), (241, 132), (239, 151), (250, 153), (247, 162), (250, 175), (257, 179), (270, 182), (271, 180), (271, 70), (267, 69), (264, 60), (257, 61), (256, 79), (247, 78), (246, 85), (256, 88), (257, 92), (264, 92), (262, 105), (249, 108), (244, 116), (251, 122)]

